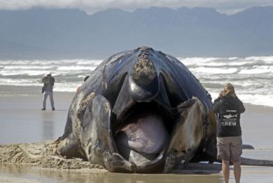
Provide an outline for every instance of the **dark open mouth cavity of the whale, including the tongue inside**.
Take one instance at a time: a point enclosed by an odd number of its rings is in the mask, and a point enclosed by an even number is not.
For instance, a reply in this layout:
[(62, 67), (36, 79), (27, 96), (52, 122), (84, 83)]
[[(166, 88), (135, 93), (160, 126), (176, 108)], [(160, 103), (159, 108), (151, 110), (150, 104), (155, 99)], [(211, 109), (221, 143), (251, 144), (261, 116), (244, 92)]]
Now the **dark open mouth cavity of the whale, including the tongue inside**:
[(167, 147), (174, 118), (156, 102), (134, 103), (113, 129), (118, 153), (136, 165), (153, 161)]

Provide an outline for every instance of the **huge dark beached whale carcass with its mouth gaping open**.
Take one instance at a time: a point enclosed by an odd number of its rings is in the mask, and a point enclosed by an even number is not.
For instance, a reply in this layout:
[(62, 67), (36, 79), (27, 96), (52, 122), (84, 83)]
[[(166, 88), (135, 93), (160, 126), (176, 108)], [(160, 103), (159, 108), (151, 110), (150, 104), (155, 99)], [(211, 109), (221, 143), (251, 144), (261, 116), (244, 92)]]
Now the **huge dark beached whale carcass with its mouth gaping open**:
[(171, 55), (141, 47), (102, 62), (69, 109), (60, 154), (120, 172), (216, 157), (211, 97)]

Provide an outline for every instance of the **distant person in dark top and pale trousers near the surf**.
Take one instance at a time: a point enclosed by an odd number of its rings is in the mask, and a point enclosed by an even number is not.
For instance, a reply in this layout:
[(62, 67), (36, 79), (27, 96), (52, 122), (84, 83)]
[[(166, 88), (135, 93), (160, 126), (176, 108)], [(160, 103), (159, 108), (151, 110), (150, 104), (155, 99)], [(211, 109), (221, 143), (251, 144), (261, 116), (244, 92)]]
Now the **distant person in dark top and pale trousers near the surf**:
[(53, 100), (53, 86), (55, 83), (55, 79), (54, 79), (54, 77), (51, 76), (51, 73), (49, 73), (43, 77), (42, 82), (43, 82), (43, 88), (42, 88), (43, 108), (41, 110), (43, 110), (43, 111), (45, 110), (46, 98), (49, 95), (52, 111), (55, 111), (54, 100)]

